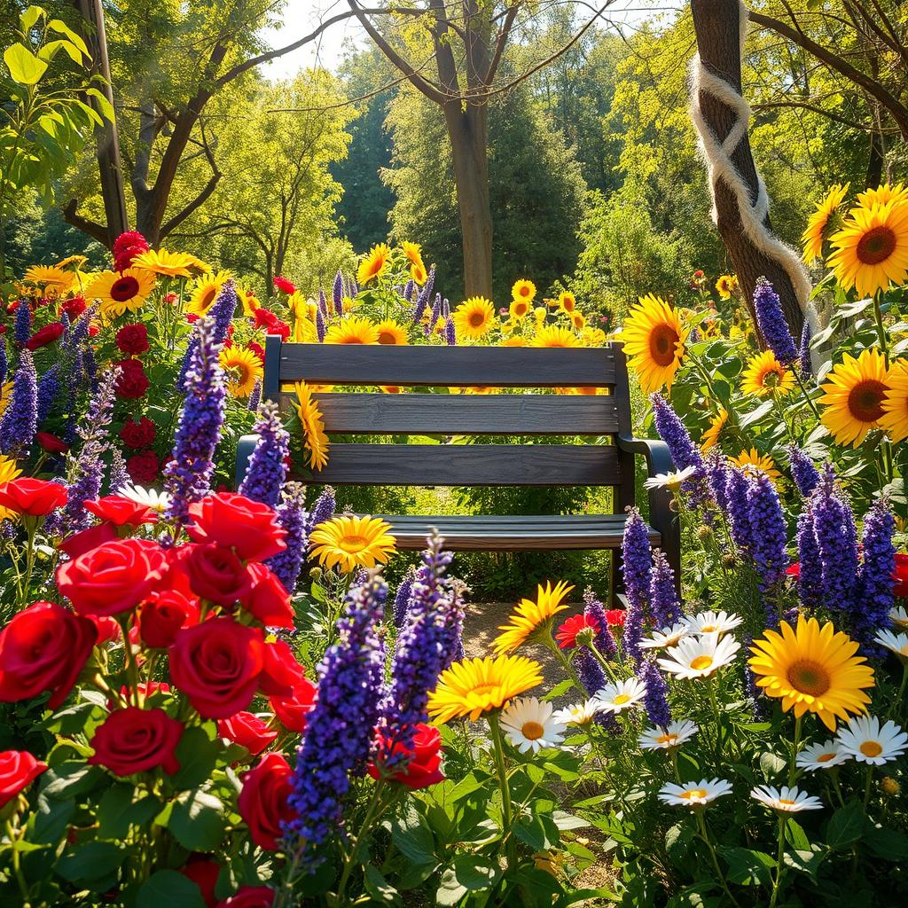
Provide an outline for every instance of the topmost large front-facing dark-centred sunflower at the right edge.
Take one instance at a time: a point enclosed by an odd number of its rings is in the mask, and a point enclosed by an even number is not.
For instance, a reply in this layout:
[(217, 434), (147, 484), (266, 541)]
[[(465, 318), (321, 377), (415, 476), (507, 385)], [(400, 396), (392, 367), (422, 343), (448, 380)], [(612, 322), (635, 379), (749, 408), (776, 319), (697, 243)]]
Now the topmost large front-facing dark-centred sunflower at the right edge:
[(851, 219), (830, 238), (829, 265), (845, 290), (862, 296), (903, 284), (908, 275), (908, 202), (893, 199), (854, 208)]

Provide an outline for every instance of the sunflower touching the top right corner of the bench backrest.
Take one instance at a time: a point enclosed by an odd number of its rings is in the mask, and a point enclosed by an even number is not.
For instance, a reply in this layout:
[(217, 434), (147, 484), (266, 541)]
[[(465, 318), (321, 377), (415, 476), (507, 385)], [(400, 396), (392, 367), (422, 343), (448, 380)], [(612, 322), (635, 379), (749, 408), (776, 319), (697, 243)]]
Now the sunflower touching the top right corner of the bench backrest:
[(663, 385), (671, 389), (689, 332), (678, 313), (652, 294), (641, 297), (627, 314), (620, 339), (645, 394)]

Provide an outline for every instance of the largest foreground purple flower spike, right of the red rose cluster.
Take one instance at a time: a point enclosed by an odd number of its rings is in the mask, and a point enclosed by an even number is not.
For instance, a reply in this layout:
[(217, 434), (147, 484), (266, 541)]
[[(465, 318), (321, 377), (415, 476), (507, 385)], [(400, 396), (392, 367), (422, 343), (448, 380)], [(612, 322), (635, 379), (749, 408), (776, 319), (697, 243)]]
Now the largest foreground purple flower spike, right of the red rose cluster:
[(299, 814), (284, 827), (289, 850), (310, 869), (318, 850), (343, 824), (350, 776), (361, 775), (369, 759), (384, 655), (380, 624), (388, 587), (374, 579), (347, 594), (338, 621), (338, 641), (318, 668), (319, 690), (297, 754), (288, 803)]

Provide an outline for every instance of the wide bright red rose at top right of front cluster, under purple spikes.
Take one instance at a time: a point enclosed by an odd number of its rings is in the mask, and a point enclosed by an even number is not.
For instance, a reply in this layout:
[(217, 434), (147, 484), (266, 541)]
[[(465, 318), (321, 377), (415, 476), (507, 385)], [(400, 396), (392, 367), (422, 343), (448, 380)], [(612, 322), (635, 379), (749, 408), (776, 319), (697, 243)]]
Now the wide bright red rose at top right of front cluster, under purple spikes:
[(264, 561), (287, 548), (274, 511), (235, 492), (202, 498), (189, 506), (189, 516), (195, 523), (187, 531), (196, 542), (233, 548), (243, 561)]

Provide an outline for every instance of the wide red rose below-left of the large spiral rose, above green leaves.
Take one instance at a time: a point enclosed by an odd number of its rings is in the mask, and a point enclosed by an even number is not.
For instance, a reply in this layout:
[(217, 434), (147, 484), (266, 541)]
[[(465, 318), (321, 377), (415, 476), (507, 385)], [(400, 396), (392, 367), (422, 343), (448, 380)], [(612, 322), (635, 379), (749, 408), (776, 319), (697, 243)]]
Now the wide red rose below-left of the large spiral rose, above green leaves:
[(183, 723), (163, 709), (127, 706), (117, 709), (97, 727), (91, 745), (94, 755), (88, 762), (104, 766), (114, 775), (147, 773), (162, 766), (173, 775), (180, 768), (176, 745), (183, 737)]

